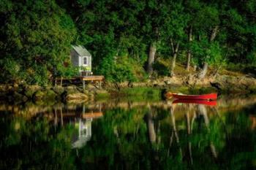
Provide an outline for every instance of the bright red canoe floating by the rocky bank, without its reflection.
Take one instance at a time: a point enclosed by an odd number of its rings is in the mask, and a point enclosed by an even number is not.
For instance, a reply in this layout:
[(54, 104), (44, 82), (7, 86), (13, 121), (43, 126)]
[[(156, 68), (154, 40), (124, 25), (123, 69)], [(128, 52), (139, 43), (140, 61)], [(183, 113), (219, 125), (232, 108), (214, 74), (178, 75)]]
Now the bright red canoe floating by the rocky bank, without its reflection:
[(167, 98), (173, 97), (178, 99), (187, 99), (187, 100), (217, 100), (217, 93), (209, 93), (202, 95), (186, 95), (186, 94), (177, 94), (168, 92), (165, 95)]

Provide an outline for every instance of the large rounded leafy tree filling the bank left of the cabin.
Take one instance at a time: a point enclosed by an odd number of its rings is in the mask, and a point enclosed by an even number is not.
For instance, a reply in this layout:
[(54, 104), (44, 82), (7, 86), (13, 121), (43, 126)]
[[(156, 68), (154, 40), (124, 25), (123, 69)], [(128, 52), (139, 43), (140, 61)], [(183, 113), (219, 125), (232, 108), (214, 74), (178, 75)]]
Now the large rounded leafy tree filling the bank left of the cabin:
[[(55, 1), (6, 1), (1, 7), (1, 77), (46, 84), (68, 61), (75, 27)], [(2, 80), (2, 79), (1, 79)]]

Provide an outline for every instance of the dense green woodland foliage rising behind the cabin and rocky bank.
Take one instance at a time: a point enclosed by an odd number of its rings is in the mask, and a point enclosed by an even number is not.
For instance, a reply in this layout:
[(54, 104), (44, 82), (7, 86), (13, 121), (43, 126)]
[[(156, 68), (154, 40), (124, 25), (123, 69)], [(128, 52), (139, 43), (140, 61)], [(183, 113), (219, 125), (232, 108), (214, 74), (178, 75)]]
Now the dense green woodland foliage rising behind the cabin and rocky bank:
[(118, 82), (137, 80), (159, 58), (170, 58), (173, 69), (176, 58), (188, 70), (256, 66), (255, 0), (3, 0), (0, 22), (1, 81), (45, 84), (55, 71), (71, 75), (64, 63), (72, 44), (92, 53), (95, 73)]

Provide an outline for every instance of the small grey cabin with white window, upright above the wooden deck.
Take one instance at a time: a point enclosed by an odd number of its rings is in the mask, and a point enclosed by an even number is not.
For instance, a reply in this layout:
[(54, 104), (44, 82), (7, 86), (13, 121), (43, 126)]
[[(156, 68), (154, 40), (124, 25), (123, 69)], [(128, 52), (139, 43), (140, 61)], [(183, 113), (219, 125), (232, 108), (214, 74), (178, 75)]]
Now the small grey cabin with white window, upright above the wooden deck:
[(80, 75), (91, 75), (91, 53), (82, 45), (72, 45), (70, 53), (71, 63), (73, 66), (79, 67)]

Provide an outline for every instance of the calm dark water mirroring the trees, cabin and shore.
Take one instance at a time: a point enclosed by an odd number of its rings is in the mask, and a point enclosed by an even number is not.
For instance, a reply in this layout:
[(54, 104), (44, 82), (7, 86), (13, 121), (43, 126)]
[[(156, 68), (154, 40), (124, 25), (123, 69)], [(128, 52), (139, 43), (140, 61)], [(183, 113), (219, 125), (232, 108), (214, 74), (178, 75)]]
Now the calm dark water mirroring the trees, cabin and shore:
[(256, 169), (256, 97), (0, 104), (0, 169)]

